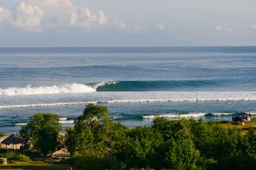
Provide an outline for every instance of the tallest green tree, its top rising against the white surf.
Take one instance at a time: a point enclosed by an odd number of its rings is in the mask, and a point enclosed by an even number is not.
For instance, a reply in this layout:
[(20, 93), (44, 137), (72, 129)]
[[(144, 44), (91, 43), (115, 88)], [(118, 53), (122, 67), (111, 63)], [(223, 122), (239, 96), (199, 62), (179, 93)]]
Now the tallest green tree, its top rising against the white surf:
[(128, 128), (114, 123), (107, 108), (88, 104), (75, 120), (74, 128), (66, 129), (65, 144), (71, 156), (104, 157), (117, 152)]

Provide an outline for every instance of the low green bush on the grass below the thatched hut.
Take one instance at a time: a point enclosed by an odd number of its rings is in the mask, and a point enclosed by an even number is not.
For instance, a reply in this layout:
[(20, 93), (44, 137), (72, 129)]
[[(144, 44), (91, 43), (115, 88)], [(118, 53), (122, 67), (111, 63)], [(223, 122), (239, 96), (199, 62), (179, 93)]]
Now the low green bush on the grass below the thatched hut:
[(16, 153), (15, 151), (8, 151), (6, 153), (0, 154), (0, 157), (7, 158), (8, 161), (22, 161), (22, 162), (30, 162), (31, 159), (27, 155), (22, 155)]

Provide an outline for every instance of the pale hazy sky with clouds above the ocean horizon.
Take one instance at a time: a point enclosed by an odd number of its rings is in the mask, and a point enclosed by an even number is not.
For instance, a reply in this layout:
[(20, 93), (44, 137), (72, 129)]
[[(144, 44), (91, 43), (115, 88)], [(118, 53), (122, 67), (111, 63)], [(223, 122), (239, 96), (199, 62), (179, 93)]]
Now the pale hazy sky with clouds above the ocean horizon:
[(183, 45), (256, 45), (256, 1), (0, 2), (0, 47)]

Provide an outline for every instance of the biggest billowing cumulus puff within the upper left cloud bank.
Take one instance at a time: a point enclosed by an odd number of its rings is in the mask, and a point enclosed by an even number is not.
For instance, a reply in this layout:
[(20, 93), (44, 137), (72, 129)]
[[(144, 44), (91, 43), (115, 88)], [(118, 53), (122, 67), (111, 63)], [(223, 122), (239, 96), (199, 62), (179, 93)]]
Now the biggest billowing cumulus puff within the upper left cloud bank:
[(44, 18), (44, 11), (32, 3), (21, 2), (15, 9), (16, 17), (13, 25), (27, 31), (41, 32), (41, 21)]

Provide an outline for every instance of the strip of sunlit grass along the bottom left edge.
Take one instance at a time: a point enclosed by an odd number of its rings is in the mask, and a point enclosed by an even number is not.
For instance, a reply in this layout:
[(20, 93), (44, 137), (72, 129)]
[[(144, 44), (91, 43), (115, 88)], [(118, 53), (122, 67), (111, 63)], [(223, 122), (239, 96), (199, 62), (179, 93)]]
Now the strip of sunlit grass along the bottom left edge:
[(26, 170), (69, 170), (70, 165), (65, 164), (52, 164), (42, 161), (33, 161), (31, 163), (9, 163), (7, 165), (0, 165), (0, 169), (26, 169)]

